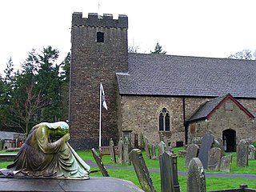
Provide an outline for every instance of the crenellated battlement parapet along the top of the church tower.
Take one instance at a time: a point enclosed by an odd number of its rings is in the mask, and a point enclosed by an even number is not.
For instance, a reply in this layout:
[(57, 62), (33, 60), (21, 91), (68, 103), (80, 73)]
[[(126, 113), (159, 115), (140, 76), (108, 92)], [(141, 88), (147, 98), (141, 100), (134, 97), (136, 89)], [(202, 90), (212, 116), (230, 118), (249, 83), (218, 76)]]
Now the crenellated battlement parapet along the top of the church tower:
[(113, 19), (113, 14), (90, 13), (88, 18), (82, 18), (82, 12), (74, 12), (72, 15), (72, 26), (103, 26), (128, 29), (128, 17), (125, 14), (119, 14), (118, 19)]

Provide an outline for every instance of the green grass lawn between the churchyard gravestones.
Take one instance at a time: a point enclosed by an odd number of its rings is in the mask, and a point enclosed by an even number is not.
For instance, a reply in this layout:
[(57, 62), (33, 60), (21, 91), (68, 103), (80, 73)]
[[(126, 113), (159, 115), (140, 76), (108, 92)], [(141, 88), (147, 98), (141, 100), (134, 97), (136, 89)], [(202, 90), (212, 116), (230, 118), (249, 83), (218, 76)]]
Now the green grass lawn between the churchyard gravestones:
[[(174, 154), (178, 154), (178, 150), (183, 150), (183, 148), (174, 148)], [(78, 150), (77, 151), (79, 156), (82, 159), (91, 160), (94, 162), (94, 158), (90, 152), (90, 150)], [(159, 163), (158, 160), (151, 160), (146, 158), (145, 151), (142, 151), (143, 157), (146, 162), (146, 166), (148, 169), (156, 169), (159, 170)], [(237, 167), (236, 166), (236, 154), (232, 154), (232, 166), (231, 166), (231, 172), (230, 174), (256, 174), (256, 160), (250, 160), (249, 166), (247, 167)], [(111, 165), (111, 166), (120, 166), (119, 164), (114, 164), (110, 160), (110, 156), (103, 156), (102, 161), (105, 165)], [(0, 162), (0, 168), (5, 168), (8, 164), (11, 162)], [(185, 158), (178, 158), (178, 170), (179, 171), (186, 171), (187, 168), (185, 165)], [(132, 167), (132, 166), (130, 166)], [(91, 170), (98, 170), (98, 167), (91, 167)], [(206, 173), (221, 173), (220, 171), (210, 171), (205, 170)], [(117, 170), (110, 170), (108, 169), (108, 172), (111, 177), (114, 178), (122, 178), (129, 180), (131, 182), (134, 182), (135, 185), (140, 186), (138, 182), (137, 175), (133, 170), (123, 170), (123, 169), (117, 169)], [(92, 173), (91, 176), (102, 176), (101, 173)], [(157, 191), (161, 191), (161, 180), (160, 180), (160, 174), (150, 174), (154, 186)], [(181, 191), (186, 191), (186, 177), (179, 176), (178, 177), (180, 189)], [(256, 189), (256, 181), (253, 179), (242, 179), (242, 178), (206, 178), (206, 189), (208, 190), (224, 190), (224, 189), (234, 189), (238, 188), (240, 184), (246, 183), (250, 188)]]

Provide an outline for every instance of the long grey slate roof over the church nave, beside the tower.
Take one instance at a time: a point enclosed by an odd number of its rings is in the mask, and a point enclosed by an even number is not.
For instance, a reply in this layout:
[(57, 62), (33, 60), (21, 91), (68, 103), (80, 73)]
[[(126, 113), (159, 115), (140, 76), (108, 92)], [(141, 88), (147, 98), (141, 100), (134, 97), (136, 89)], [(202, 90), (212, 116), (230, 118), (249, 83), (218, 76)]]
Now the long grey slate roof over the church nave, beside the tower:
[(256, 98), (256, 61), (162, 54), (129, 54), (116, 73), (120, 94)]

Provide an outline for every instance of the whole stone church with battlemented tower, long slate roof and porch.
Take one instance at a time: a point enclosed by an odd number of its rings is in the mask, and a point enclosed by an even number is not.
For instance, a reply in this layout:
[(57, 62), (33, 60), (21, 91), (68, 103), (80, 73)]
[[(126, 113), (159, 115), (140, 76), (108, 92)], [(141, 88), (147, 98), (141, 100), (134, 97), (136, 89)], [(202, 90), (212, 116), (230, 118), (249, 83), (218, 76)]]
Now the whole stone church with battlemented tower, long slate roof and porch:
[[(144, 29), (145, 30), (145, 29)], [(159, 135), (171, 146), (210, 130), (234, 151), (256, 141), (256, 62), (128, 53), (128, 18), (74, 12), (71, 30), (70, 134), (75, 149), (98, 147), (99, 85), (106, 92), (102, 146), (122, 130)]]

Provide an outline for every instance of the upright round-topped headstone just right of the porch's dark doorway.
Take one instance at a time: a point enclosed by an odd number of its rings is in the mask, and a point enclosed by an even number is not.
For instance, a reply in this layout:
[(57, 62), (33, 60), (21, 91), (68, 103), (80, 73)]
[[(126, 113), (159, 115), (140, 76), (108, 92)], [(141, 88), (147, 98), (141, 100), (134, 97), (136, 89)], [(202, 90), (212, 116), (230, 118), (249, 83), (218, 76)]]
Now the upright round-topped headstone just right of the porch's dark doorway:
[(237, 166), (248, 166), (248, 146), (249, 143), (243, 139), (238, 143)]

